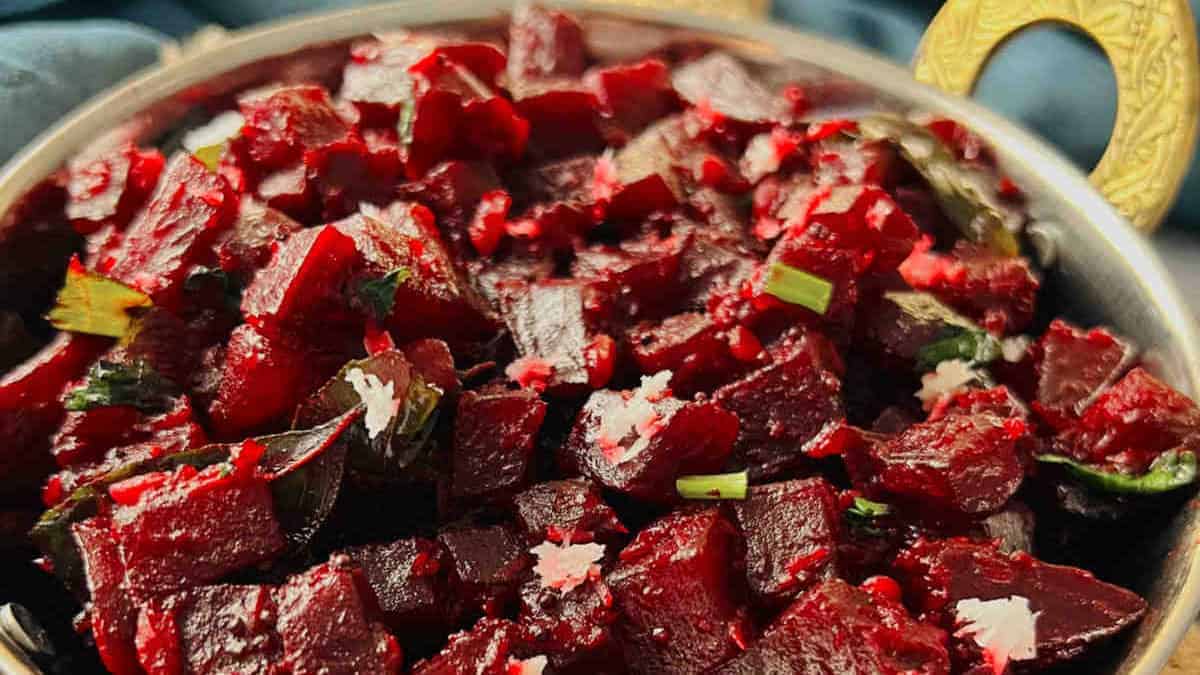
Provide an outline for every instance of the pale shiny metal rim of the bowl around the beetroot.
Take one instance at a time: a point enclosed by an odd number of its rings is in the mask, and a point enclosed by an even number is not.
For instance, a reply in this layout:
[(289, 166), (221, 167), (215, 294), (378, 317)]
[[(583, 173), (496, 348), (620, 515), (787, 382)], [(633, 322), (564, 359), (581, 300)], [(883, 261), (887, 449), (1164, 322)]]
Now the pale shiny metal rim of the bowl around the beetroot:
[[(1031, 177), (1050, 186), (1061, 201), (1084, 214), (1091, 223), (1092, 234), (1128, 261), (1134, 280), (1147, 297), (1153, 298), (1165, 333), (1182, 354), (1182, 377), (1190, 393), (1200, 395), (1200, 334), (1192, 311), (1158, 253), (1076, 167), (1033, 133), (970, 98), (917, 82), (907, 68), (881, 55), (781, 24), (730, 22), (679, 10), (624, 7), (611, 0), (547, 0), (542, 4), (594, 16), (695, 30), (708, 36), (744, 41), (751, 47), (755, 43), (768, 44), (773, 56), (823, 67), (916, 108), (942, 110), (953, 118), (968, 120), (973, 130), (996, 143), (1006, 155), (1034, 159), (1027, 162)], [(506, 14), (511, 7), (511, 0), (439, 0), (436, 4), (428, 0), (394, 0), (301, 14), (230, 31), (216, 49), (185, 50), (175, 60), (149, 66), (97, 94), (38, 135), (0, 167), (0, 214), (7, 213), (30, 187), (59, 169), (90, 141), (131, 119), (148, 104), (166, 100), (190, 85), (239, 66), (318, 43), (349, 40), (382, 29), (493, 19)], [(1192, 516), (1189, 525), (1198, 522), (1200, 513)], [(1184, 534), (1193, 530), (1195, 527), (1184, 530)], [(1151, 635), (1135, 662), (1132, 665), (1121, 662), (1122, 673), (1159, 673), (1200, 611), (1200, 546), (1188, 543), (1183, 555), (1188, 556), (1188, 569), (1182, 587), (1165, 608), (1159, 608), (1165, 610), (1159, 629)]]

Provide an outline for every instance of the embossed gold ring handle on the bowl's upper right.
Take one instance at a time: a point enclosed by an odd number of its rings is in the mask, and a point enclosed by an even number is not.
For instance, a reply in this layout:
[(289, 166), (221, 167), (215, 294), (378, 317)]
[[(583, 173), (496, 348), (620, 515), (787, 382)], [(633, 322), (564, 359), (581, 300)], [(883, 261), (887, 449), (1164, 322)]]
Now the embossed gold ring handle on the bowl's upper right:
[(970, 95), (991, 54), (1039, 23), (1076, 28), (1108, 54), (1117, 118), (1092, 184), (1139, 229), (1154, 229), (1195, 149), (1200, 66), (1188, 0), (948, 0), (917, 49), (916, 77)]

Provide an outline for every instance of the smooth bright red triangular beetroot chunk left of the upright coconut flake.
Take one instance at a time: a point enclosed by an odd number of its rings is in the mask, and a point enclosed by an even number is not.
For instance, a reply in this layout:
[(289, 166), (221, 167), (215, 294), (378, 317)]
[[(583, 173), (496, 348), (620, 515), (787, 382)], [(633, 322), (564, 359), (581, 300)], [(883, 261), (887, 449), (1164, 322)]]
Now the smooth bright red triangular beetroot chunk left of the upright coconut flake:
[(217, 396), (209, 407), (212, 426), (230, 438), (289, 419), (338, 365), (268, 338), (253, 325), (239, 325), (229, 336)]

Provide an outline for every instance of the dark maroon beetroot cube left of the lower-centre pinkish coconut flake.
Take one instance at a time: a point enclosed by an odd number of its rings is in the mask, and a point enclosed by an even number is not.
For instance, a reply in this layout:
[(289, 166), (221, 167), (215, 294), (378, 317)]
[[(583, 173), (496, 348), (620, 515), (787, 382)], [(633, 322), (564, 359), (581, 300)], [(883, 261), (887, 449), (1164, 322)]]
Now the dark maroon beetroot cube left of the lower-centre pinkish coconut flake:
[(404, 640), (431, 639), (449, 629), (457, 616), (450, 595), (451, 562), (431, 539), (400, 539), (348, 549), (346, 555), (379, 601), (388, 627)]

